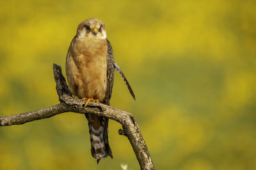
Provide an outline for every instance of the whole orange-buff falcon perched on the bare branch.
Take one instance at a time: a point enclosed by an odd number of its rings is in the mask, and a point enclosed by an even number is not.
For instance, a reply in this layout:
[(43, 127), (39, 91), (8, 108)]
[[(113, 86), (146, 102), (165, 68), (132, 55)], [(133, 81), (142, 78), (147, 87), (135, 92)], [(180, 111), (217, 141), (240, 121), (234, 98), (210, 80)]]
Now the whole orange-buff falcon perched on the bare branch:
[[(105, 25), (96, 18), (89, 18), (77, 27), (76, 36), (68, 48), (66, 59), (67, 81), (72, 94), (80, 99), (109, 105), (115, 69), (121, 74), (129, 92), (134, 93), (124, 73), (113, 58), (112, 46), (107, 39)], [(92, 156), (97, 164), (102, 158), (112, 156), (108, 143), (108, 118), (87, 115)]]

